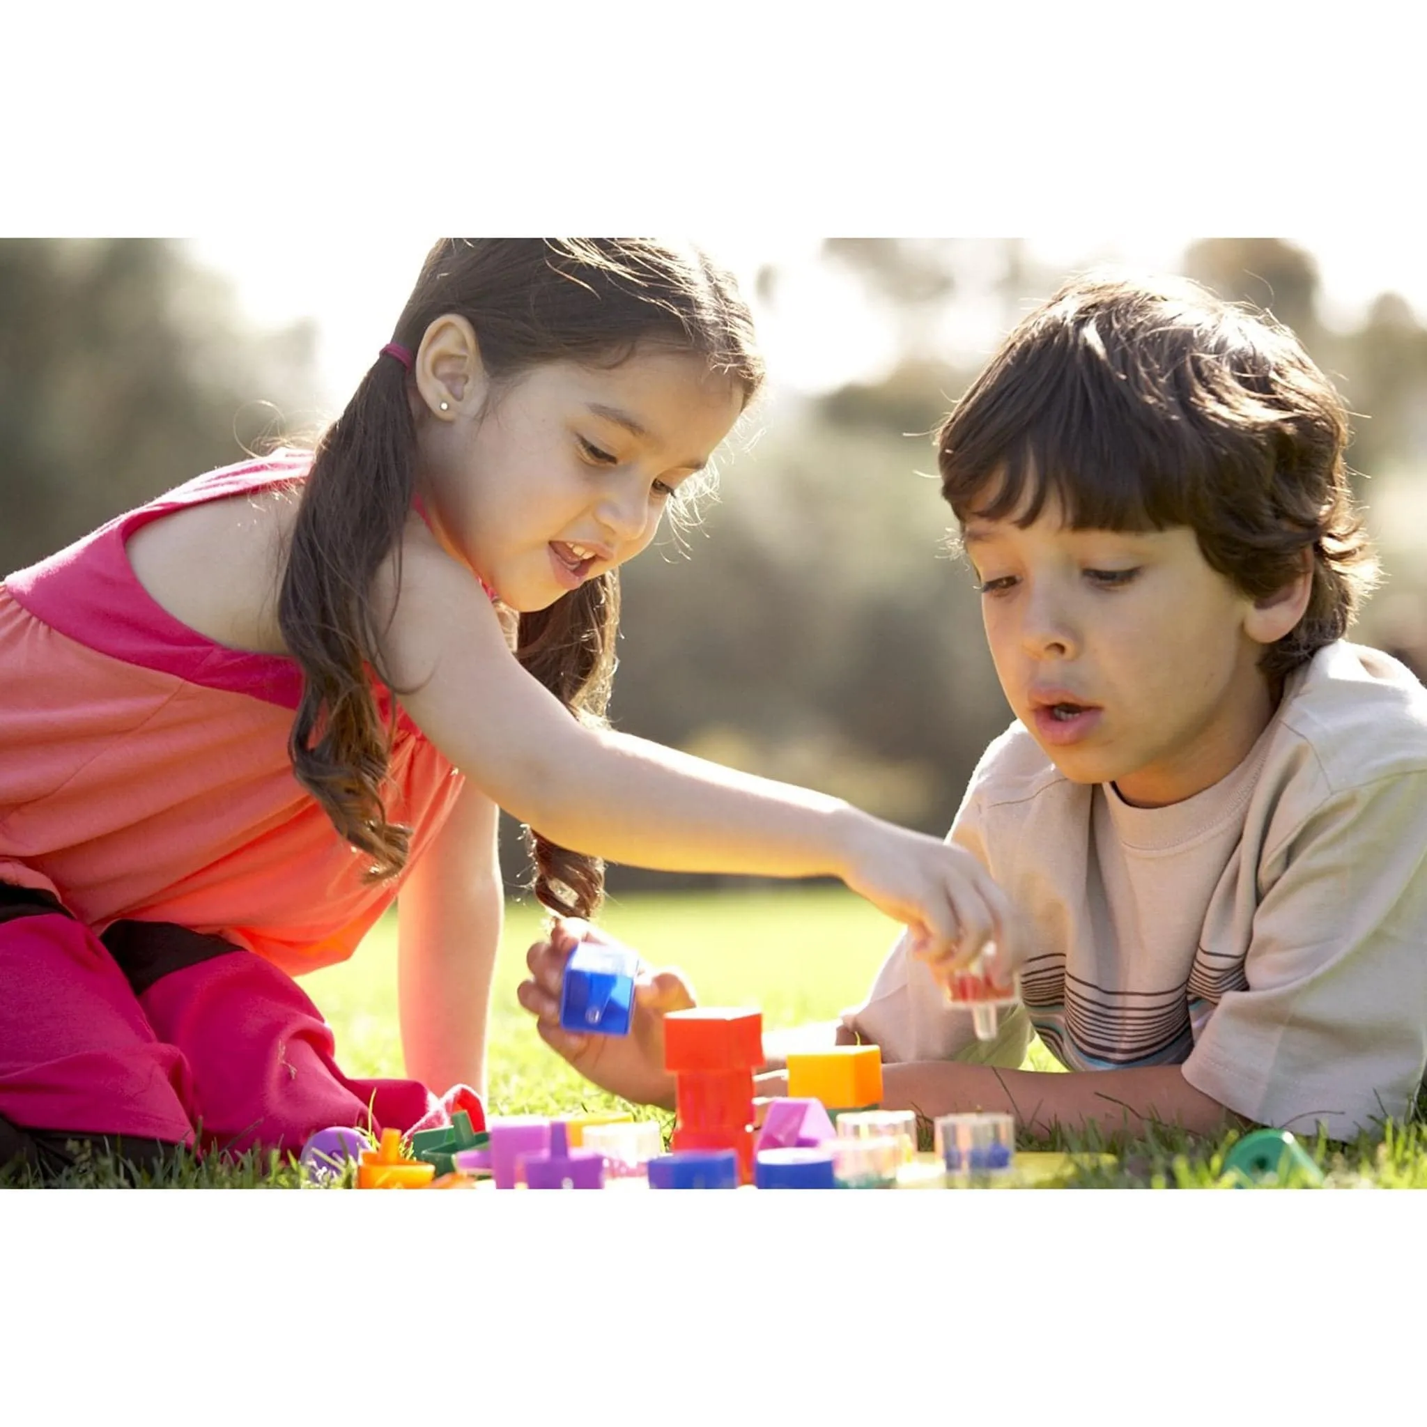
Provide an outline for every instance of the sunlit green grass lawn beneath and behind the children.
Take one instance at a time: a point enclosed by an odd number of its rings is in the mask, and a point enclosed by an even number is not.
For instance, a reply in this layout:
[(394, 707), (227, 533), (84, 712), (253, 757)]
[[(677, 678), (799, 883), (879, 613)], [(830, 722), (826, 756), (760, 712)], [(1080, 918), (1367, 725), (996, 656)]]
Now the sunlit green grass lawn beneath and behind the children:
[[(542, 912), (529, 905), (507, 910), (497, 960), (488, 1052), (488, 1107), (495, 1114), (577, 1113), (631, 1109), (595, 1089), (551, 1052), (515, 1000), (525, 975), (525, 948), (539, 936)], [(896, 926), (841, 888), (711, 895), (639, 895), (611, 902), (602, 916), (611, 935), (638, 948), (658, 966), (678, 966), (701, 1005), (755, 1005), (766, 1029), (832, 1020), (866, 992), (873, 972), (896, 936)], [(361, 950), (341, 966), (304, 977), (337, 1035), (337, 1055), (354, 1076), (400, 1076), (397, 1032), (395, 922), (381, 922)], [(1033, 1043), (1026, 1062), (1056, 1070)], [(641, 1116), (651, 1112), (639, 1107)], [(671, 1116), (656, 1113), (665, 1123)], [(1052, 1147), (1086, 1152), (1077, 1187), (1213, 1187), (1223, 1183), (1223, 1159), (1237, 1136), (1202, 1140), (1157, 1129), (1110, 1146), (1113, 1166), (1093, 1152), (1095, 1136), (1060, 1134)], [(1333, 1187), (1427, 1187), (1427, 1124), (1388, 1124), (1381, 1136), (1351, 1144), (1320, 1139), (1307, 1149)], [(27, 1186), (37, 1177), (23, 1169), (0, 1172), (0, 1186)], [(245, 1156), (237, 1163), (178, 1157), (157, 1174), (134, 1174), (107, 1157), (81, 1159), (51, 1183), (108, 1187), (138, 1182), (156, 1187), (297, 1187), (300, 1173), (275, 1156)]]

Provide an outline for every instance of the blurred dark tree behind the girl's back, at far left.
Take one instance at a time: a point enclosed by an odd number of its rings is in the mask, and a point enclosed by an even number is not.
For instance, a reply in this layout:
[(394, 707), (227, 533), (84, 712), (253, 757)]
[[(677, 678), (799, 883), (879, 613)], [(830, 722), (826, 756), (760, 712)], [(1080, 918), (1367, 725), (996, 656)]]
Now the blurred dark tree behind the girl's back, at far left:
[(245, 331), (177, 243), (0, 241), (0, 575), (293, 425), (314, 337)]

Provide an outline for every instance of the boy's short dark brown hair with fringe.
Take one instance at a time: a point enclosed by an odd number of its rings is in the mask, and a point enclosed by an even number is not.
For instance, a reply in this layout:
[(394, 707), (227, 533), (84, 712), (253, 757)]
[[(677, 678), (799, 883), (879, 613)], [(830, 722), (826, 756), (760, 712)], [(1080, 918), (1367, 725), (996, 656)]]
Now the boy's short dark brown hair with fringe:
[(942, 494), (1029, 525), (1052, 492), (1076, 529), (1190, 527), (1263, 599), (1313, 559), (1279, 679), (1340, 638), (1377, 577), (1349, 488), (1347, 412), (1297, 338), (1187, 278), (1075, 278), (1030, 313), (938, 432)]

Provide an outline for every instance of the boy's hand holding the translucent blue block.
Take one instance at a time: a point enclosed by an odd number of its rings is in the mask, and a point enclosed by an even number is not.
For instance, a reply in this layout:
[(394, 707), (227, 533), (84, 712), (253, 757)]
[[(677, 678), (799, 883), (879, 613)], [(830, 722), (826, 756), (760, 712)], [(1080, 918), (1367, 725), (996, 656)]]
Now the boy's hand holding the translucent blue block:
[(535, 942), (525, 953), (531, 979), (515, 990), (519, 1003), (535, 1016), (541, 1039), (564, 1056), (586, 1080), (635, 1104), (674, 1109), (674, 1076), (664, 1069), (664, 1017), (689, 1010), (694, 992), (676, 970), (639, 968), (634, 985), (634, 1012), (628, 1036), (589, 1036), (565, 1030), (559, 1023), (559, 990), (565, 962), (581, 942), (606, 943), (599, 928), (577, 918), (557, 920), (548, 942)]

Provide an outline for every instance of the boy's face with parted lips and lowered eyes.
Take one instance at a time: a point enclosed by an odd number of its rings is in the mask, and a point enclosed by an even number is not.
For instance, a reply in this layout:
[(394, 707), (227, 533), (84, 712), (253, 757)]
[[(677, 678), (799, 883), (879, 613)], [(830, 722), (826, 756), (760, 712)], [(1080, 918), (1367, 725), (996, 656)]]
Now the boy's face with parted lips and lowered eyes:
[(1052, 498), (1025, 529), (973, 517), (963, 542), (1000, 686), (1066, 778), (1113, 782), (1140, 806), (1180, 802), (1263, 732), (1254, 604), (1187, 527), (1069, 529)]

